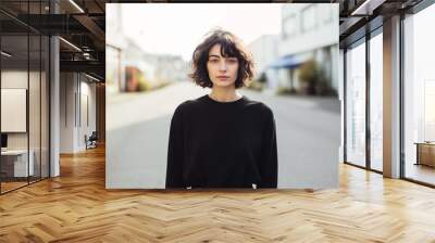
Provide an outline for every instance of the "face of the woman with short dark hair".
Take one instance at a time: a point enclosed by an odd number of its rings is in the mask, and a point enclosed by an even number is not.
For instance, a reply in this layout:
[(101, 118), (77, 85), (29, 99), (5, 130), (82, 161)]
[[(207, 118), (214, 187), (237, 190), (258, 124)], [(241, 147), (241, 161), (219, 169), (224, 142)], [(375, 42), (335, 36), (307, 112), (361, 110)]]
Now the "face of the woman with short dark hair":
[(214, 44), (209, 51), (207, 71), (213, 87), (235, 86), (238, 72), (237, 57), (224, 57), (221, 55), (221, 44)]

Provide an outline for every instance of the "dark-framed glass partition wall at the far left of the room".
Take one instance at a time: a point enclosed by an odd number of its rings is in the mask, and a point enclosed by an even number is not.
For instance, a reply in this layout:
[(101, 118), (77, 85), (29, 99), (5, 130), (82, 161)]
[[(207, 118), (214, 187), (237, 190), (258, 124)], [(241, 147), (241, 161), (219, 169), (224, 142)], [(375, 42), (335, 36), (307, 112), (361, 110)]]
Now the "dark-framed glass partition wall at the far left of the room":
[[(1, 1), (0, 7), (39, 20), (36, 15), (48, 13), (49, 1)], [(0, 192), (4, 193), (49, 174), (49, 38), (2, 13), (0, 18), (8, 22), (0, 29)]]

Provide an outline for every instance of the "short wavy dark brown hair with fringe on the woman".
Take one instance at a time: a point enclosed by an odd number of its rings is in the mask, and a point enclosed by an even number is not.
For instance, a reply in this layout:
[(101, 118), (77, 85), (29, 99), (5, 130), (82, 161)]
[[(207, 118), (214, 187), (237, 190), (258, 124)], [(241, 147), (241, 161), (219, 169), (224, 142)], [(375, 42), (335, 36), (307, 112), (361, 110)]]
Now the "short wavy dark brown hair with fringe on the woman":
[(209, 51), (214, 44), (221, 44), (222, 56), (237, 57), (239, 65), (235, 82), (236, 88), (247, 86), (247, 82), (253, 78), (252, 55), (246, 50), (238, 37), (223, 29), (212, 30), (209, 37), (195, 49), (191, 60), (192, 72), (189, 77), (202, 88), (213, 87), (207, 69), (207, 62)]

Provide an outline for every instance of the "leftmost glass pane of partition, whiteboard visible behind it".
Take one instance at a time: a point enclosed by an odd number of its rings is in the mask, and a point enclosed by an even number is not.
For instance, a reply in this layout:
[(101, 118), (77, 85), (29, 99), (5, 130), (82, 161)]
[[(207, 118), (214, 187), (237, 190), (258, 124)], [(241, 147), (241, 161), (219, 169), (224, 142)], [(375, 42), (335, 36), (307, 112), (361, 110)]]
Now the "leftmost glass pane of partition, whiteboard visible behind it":
[[(1, 192), (27, 184), (28, 133), (26, 128), (28, 97), (28, 37), (1, 37)], [(12, 118), (14, 117), (14, 118)], [(30, 159), (32, 162), (32, 159)]]

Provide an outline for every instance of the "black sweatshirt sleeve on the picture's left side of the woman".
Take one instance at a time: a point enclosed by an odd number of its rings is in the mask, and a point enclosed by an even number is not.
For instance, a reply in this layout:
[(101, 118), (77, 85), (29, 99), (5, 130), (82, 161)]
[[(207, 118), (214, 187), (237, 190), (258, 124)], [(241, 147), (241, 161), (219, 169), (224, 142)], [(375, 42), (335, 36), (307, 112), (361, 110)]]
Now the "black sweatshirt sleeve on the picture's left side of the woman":
[(171, 119), (170, 139), (167, 145), (166, 189), (184, 188), (184, 136), (183, 114), (178, 106)]

